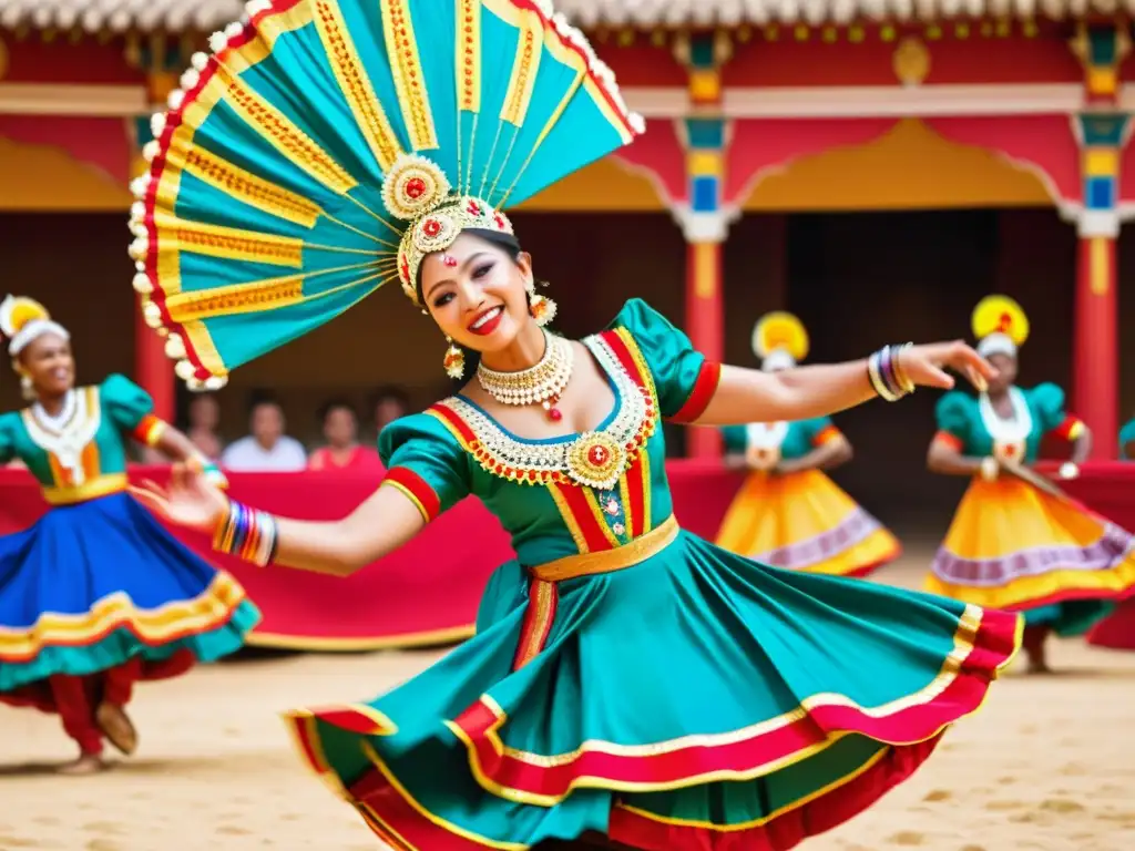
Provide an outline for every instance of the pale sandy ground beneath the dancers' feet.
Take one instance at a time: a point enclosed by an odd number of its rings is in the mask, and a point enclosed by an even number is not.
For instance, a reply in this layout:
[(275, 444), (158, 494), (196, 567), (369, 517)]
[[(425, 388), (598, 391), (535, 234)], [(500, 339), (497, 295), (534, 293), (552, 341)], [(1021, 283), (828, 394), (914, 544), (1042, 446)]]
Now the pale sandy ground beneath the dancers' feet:
[[(881, 576), (914, 584), (922, 558)], [(0, 851), (379, 848), (306, 773), (277, 714), (368, 698), (436, 652), (239, 660), (143, 686), (136, 758), (60, 777), (53, 718), (0, 707)], [(1010, 673), (907, 784), (808, 851), (1135, 849), (1135, 654), (1054, 647), (1065, 673)]]

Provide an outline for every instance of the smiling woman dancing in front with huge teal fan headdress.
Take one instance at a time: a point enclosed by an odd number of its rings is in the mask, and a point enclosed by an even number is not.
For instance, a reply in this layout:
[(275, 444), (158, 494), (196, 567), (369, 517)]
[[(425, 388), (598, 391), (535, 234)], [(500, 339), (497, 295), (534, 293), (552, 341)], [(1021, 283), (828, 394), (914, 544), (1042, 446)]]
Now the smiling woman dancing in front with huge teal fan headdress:
[[(585, 340), (548, 334), (554, 310), (498, 205), (640, 125), (546, 2), (378, 7), (255, 5), (194, 61), (137, 186), (136, 285), (184, 343), (179, 372), (209, 385), (389, 269), (448, 337), (461, 390), (384, 430), (385, 487), (343, 521), (228, 503), (190, 469), (140, 497), (224, 551), (333, 575), (468, 495), (511, 532), (518, 562), (495, 575), (476, 638), (371, 703), (289, 716), (308, 762), (388, 844), (595, 832), (787, 849), (851, 817), (978, 707), (1019, 618), (777, 571), (683, 532), (659, 424), (808, 419), (952, 386), (943, 368), (992, 368), (960, 343), (775, 374), (720, 366), (638, 300)], [(176, 179), (201, 161), (211, 183)], [(237, 230), (224, 252), (186, 238)]]

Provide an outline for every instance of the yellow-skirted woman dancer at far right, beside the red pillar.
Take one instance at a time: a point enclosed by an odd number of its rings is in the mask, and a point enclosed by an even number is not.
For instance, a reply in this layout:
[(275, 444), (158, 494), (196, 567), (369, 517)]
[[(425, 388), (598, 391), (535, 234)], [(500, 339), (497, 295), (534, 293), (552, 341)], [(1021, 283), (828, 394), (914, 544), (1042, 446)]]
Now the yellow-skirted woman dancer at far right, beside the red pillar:
[(938, 403), (938, 435), (927, 464), (935, 473), (973, 478), (931, 567), (927, 589), (957, 600), (1025, 613), (1032, 672), (1049, 669), (1051, 632), (1075, 635), (1103, 617), (1135, 584), (1132, 536), (1062, 496), (1022, 465), (1050, 432), (1070, 440), (1077, 474), (1091, 433), (1065, 412), (1051, 384), (1023, 390), (1017, 352), (1028, 337), (1020, 306), (987, 296), (974, 310), (977, 351), (998, 369), (977, 398), (948, 393)]

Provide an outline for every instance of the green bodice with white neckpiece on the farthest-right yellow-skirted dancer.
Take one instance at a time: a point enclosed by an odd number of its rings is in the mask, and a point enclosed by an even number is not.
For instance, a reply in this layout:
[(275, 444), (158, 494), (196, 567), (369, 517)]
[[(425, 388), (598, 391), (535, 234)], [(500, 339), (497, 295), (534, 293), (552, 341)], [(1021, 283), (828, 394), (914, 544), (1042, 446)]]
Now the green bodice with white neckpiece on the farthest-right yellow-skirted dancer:
[(1036, 461), (1049, 432), (1073, 439), (1083, 428), (1065, 412), (1065, 394), (1053, 384), (1031, 389), (1011, 387), (1012, 416), (1001, 416), (983, 394), (969, 396), (951, 390), (938, 402), (940, 433), (947, 435), (964, 455), (997, 455), (1011, 461)]

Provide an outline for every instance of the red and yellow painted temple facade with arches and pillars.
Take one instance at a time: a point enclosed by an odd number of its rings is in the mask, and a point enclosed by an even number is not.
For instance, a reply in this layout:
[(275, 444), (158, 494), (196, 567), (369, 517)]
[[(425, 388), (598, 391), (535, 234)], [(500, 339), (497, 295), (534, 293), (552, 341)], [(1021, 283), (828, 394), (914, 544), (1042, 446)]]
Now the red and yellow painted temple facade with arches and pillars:
[[(0, 212), (125, 222), (149, 116), (241, 14), (230, 0), (120, 6), (0, 10)], [(684, 327), (709, 357), (724, 354), (723, 248), (746, 213), (1050, 208), (1078, 239), (1071, 407), (1098, 456), (1116, 456), (1117, 241), (1135, 217), (1128, 23), (1062, 7), (894, 20), (855, 2), (777, 5), (780, 18), (724, 0), (557, 6), (648, 130), (524, 207), (669, 211), (687, 244)], [(124, 224), (123, 251), (128, 241)], [(136, 314), (135, 374), (168, 418), (174, 373)], [(688, 450), (715, 455), (716, 435), (692, 432)]]

